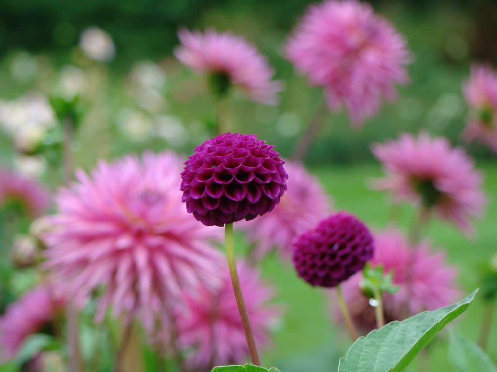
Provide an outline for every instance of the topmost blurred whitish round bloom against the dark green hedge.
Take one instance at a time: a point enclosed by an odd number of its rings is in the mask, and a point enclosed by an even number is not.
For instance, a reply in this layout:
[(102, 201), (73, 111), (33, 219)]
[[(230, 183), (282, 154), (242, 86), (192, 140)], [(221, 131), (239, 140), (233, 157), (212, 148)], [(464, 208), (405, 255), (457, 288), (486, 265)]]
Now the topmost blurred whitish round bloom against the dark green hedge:
[(89, 27), (83, 31), (80, 46), (86, 57), (95, 61), (108, 62), (115, 55), (112, 38), (97, 27)]

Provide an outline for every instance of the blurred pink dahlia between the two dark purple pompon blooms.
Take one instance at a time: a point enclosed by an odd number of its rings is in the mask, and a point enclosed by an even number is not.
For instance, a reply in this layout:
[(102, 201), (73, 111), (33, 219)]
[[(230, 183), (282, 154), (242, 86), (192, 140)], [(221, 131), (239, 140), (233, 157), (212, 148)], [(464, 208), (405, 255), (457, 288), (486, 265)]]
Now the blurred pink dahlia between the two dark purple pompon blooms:
[(319, 181), (297, 162), (286, 162), (287, 190), (271, 213), (240, 224), (261, 259), (276, 248), (284, 256), (292, 252), (293, 239), (316, 226), (330, 213), (330, 203)]

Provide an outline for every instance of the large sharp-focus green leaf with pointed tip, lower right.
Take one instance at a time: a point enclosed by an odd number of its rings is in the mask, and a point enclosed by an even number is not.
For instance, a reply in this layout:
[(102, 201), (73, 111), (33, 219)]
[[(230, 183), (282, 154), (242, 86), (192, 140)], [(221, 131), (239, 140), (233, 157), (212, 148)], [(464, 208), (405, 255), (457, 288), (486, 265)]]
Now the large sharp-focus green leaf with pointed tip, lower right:
[(462, 314), (478, 290), (457, 304), (424, 311), (359, 337), (340, 359), (338, 372), (399, 372), (450, 321)]

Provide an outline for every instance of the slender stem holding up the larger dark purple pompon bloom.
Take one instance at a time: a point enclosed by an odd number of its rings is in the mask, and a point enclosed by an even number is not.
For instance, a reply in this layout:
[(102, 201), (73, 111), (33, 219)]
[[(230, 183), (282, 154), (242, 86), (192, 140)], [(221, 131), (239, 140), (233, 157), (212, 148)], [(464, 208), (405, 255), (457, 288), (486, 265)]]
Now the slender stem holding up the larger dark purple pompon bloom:
[(242, 319), (242, 324), (245, 331), (245, 338), (247, 339), (248, 351), (250, 352), (250, 359), (252, 364), (260, 366), (259, 355), (255, 346), (255, 340), (248, 319), (247, 308), (245, 307), (244, 296), (242, 288), (240, 287), (240, 279), (238, 278), (237, 263), (235, 261), (235, 251), (233, 249), (233, 224), (225, 225), (226, 233), (226, 257), (228, 258), (228, 267), (230, 268), (231, 282), (233, 284), (233, 291), (237, 300), (238, 311)]

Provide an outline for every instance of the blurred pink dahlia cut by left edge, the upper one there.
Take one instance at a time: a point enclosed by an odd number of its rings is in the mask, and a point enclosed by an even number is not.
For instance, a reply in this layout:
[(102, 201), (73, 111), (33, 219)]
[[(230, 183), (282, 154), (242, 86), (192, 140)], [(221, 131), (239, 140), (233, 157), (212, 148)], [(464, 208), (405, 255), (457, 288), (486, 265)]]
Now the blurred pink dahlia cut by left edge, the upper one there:
[(0, 167), (0, 209), (20, 209), (34, 218), (43, 214), (49, 204), (50, 195), (43, 186)]

